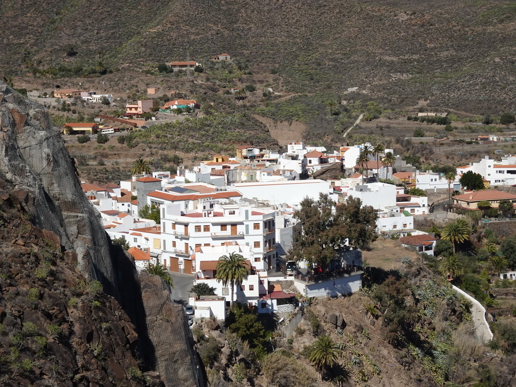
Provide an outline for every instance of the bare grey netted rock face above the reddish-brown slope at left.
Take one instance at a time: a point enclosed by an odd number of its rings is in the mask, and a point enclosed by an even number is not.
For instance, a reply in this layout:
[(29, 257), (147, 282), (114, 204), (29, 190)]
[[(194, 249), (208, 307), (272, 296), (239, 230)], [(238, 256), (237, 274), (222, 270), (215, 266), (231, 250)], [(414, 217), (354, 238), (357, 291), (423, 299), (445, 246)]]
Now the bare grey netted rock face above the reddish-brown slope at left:
[(43, 107), (0, 83), (0, 171), (41, 229), (77, 254), (85, 275), (116, 294), (107, 234), (78, 180), (57, 128)]

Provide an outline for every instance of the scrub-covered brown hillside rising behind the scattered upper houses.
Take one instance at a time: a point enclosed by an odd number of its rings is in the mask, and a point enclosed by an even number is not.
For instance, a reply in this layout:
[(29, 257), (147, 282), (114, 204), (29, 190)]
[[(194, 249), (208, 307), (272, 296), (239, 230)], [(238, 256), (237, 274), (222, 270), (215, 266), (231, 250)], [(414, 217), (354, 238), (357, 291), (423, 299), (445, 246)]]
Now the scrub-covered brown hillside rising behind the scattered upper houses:
[(279, 90), (357, 87), (349, 98), (496, 111), (514, 106), (515, 13), (503, 0), (10, 0), (0, 5), (0, 68), (79, 74), (101, 60), (155, 70), (228, 52), (252, 73), (276, 74)]

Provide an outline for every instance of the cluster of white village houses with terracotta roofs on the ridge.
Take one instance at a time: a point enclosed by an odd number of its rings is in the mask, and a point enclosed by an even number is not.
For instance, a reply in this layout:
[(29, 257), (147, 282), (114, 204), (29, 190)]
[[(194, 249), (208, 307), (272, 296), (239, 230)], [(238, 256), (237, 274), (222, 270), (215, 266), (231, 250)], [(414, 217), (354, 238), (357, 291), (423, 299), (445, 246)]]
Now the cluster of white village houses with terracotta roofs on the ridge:
[[(176, 174), (151, 171), (140, 160), (138, 173), (119, 185), (82, 184), (104, 229), (112, 240), (126, 243), (139, 270), (160, 265), (191, 276), (192, 284), (215, 289), (213, 296), (190, 293), (196, 319), (224, 319), (230, 299), (258, 313), (281, 314), (293, 312), (299, 297), (334, 297), (361, 288), (362, 251), (356, 246), (335, 250), (332, 270), (325, 268), (324, 273), (306, 262), (293, 262), (294, 214), (305, 198), (317, 201), (328, 195), (337, 205), (360, 199), (377, 213), (380, 238), (398, 239), (402, 246), (430, 256), (437, 238), (418, 230), (415, 219), (446, 222), (486, 202), (497, 212), (504, 201), (512, 208), (507, 216), (514, 214), (516, 195), (502, 190), (516, 183), (510, 178), (516, 176), (514, 156), (498, 162), (486, 156), (450, 175), (417, 171), (392, 150), (374, 149), (370, 143), (335, 152), (302, 142), (288, 144), (282, 154), (252, 146), (236, 150), (236, 157), (213, 155), (195, 168), (178, 168)], [(314, 178), (331, 168), (340, 171), (340, 178)], [(482, 187), (461, 186), (468, 172), (481, 176)], [(442, 199), (429, 202), (428, 195)], [(233, 294), (216, 276), (219, 258), (232, 254), (244, 258), (249, 272)], [(294, 288), (282, 288), (288, 280)]]

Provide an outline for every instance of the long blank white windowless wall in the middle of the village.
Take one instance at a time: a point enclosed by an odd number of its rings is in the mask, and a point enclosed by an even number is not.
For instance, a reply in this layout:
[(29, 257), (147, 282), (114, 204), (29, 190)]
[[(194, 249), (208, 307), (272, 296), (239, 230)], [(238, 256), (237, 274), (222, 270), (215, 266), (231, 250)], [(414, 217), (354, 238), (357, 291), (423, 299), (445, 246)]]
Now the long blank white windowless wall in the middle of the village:
[(330, 183), (324, 180), (293, 180), (262, 183), (236, 183), (234, 188), (244, 198), (268, 201), (271, 205), (298, 205), (305, 197), (319, 199), (319, 193), (333, 197)]

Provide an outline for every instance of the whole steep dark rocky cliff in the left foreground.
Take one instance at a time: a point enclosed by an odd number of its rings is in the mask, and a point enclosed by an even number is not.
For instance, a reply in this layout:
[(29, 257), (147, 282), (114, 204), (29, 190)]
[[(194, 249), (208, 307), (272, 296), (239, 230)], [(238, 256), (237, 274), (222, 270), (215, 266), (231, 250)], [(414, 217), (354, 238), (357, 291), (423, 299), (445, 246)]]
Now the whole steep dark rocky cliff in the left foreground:
[(195, 385), (181, 307), (140, 284), (57, 128), (1, 83), (0, 246), (0, 385)]

